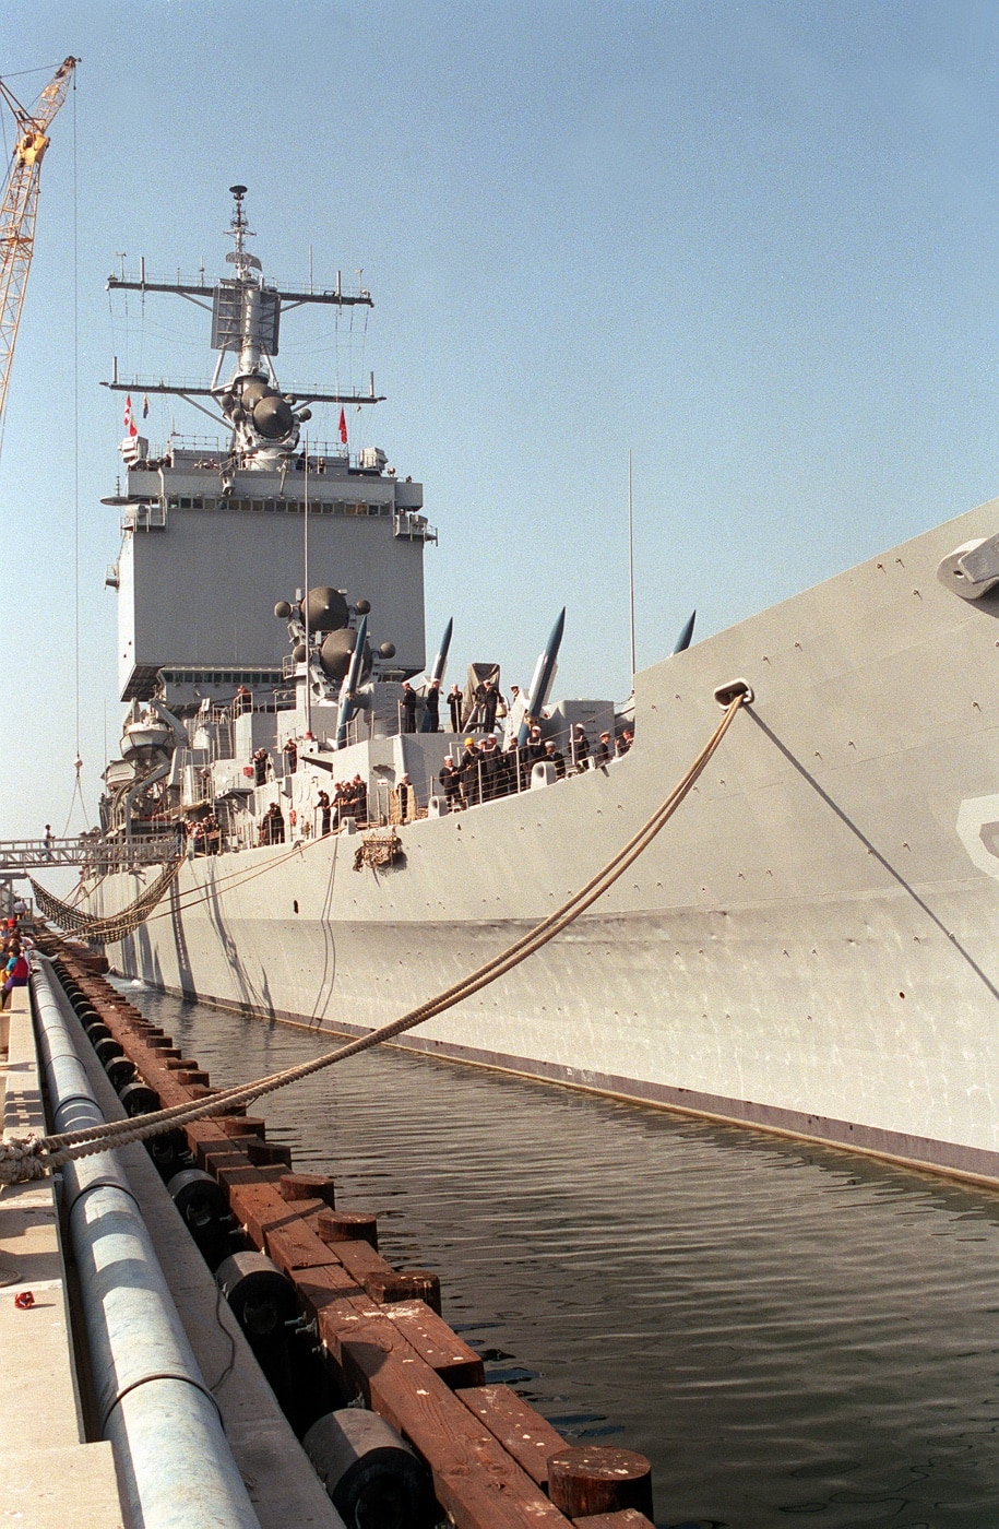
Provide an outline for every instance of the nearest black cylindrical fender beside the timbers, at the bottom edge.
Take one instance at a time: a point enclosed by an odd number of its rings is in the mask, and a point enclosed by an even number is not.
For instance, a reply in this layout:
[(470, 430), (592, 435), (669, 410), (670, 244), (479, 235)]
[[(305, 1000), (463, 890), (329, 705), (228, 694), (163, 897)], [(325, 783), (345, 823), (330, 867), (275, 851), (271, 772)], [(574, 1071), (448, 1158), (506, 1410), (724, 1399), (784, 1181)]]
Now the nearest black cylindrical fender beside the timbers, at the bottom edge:
[(344, 1523), (365, 1529), (426, 1529), (435, 1523), (426, 1466), (377, 1413), (356, 1407), (327, 1413), (302, 1446)]

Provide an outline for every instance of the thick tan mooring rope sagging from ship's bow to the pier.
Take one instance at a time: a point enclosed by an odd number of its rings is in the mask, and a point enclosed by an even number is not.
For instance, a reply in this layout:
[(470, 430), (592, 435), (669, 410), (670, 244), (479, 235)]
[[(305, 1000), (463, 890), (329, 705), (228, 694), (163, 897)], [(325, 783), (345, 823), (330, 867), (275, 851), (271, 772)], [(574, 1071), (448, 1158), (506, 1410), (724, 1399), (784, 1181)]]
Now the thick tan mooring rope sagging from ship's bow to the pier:
[(52, 1173), (60, 1168), (64, 1162), (75, 1157), (87, 1157), (92, 1153), (104, 1151), (112, 1147), (124, 1147), (128, 1142), (145, 1141), (150, 1136), (160, 1136), (165, 1131), (176, 1130), (180, 1125), (186, 1125), (191, 1121), (208, 1119), (221, 1110), (232, 1109), (232, 1105), (252, 1104), (255, 1099), (264, 1098), (267, 1093), (273, 1093), (276, 1089), (284, 1089), (292, 1083), (298, 1083), (301, 1078), (309, 1078), (313, 1072), (321, 1072), (325, 1067), (331, 1067), (338, 1061), (344, 1061), (347, 1057), (356, 1057), (359, 1052), (370, 1050), (374, 1046), (380, 1046), (383, 1041), (394, 1040), (396, 1035), (402, 1035), (405, 1031), (414, 1029), (417, 1024), (423, 1024), (426, 1020), (434, 1018), (434, 1015), (441, 1014), (445, 1009), (454, 1008), (454, 1005), (461, 1003), (464, 998), (470, 998), (481, 988), (489, 986), (489, 983), (496, 982), (513, 966), (519, 966), (521, 962), (533, 956), (544, 945), (561, 934), (574, 919), (587, 911), (597, 898), (613, 887), (613, 884), (623, 876), (631, 864), (648, 849), (657, 833), (666, 826), (672, 818), (677, 807), (689, 795), (695, 786), (698, 777), (704, 771), (706, 764), (715, 754), (718, 745), (724, 739), (726, 732), (732, 726), (735, 714), (747, 702), (745, 694), (736, 694), (727, 705), (726, 713), (718, 723), (718, 728), (707, 740), (701, 752), (697, 755), (693, 763), (689, 766), (683, 778), (669, 792), (664, 801), (655, 809), (652, 816), (632, 835), (631, 839), (597, 872), (596, 876), (580, 887), (577, 891), (568, 898), (559, 908), (550, 913), (541, 924), (536, 924), (533, 930), (522, 934), (521, 939), (515, 940), (492, 960), (487, 960), (477, 971), (463, 977), (460, 982), (438, 992), (435, 998), (429, 998), (415, 1009), (409, 1009), (400, 1018), (380, 1026), (376, 1031), (368, 1031), (367, 1035), (357, 1037), (357, 1040), (348, 1041), (345, 1046), (336, 1047), (336, 1050), (325, 1052), (322, 1057), (313, 1057), (312, 1061), (298, 1063), (295, 1067), (286, 1067), (283, 1072), (272, 1073), (267, 1078), (258, 1078), (255, 1083), (237, 1084), (232, 1089), (221, 1089), (214, 1093), (209, 1099), (192, 1099), (185, 1104), (174, 1104), (166, 1110), (157, 1110), (154, 1115), (144, 1115), (137, 1119), (128, 1121), (108, 1121), (104, 1125), (89, 1127), (79, 1131), (69, 1131), (61, 1136), (41, 1136), (27, 1138), (26, 1141), (11, 1141), (0, 1144), (0, 1183), (14, 1183), (21, 1179), (38, 1179), (46, 1173)]

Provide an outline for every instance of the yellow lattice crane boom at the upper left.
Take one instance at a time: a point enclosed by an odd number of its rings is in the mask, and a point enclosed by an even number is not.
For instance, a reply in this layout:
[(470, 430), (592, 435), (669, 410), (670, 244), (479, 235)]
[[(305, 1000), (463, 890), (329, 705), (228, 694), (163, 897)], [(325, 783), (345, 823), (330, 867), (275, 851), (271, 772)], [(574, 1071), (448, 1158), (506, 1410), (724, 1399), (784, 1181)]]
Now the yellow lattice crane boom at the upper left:
[(64, 60), (44, 87), (32, 112), (0, 80), (0, 96), (17, 124), (17, 142), (11, 159), (11, 174), (0, 208), (0, 431), (3, 405), (11, 381), (14, 344), (24, 306), (24, 287), (35, 246), (35, 213), (38, 209), (38, 176), (49, 147), (47, 128), (63, 106), (78, 58)]

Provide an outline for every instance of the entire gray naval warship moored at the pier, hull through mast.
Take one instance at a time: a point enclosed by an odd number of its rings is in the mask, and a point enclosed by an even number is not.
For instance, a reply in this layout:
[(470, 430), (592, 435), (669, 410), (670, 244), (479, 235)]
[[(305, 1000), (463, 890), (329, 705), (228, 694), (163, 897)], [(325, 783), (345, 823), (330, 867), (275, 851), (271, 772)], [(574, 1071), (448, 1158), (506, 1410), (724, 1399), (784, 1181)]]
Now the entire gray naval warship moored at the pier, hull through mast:
[[(202, 303), (217, 355), (205, 387), (110, 382), (130, 399), (107, 500), (130, 709), (101, 842), (163, 846), (125, 868), (95, 847), (79, 908), (124, 916), (115, 966), (316, 1031), (382, 1024), (587, 884), (739, 694), (628, 875), (402, 1044), (999, 1180), (999, 500), (637, 673), (628, 716), (550, 702), (556, 624), (496, 723), (506, 783), (449, 794), (445, 758), (483, 737), (503, 677), (475, 667), (458, 729), (441, 700), (429, 731), (448, 644), (428, 667), (422, 486), (380, 450), (306, 443), (312, 407), (376, 402), (373, 376), (356, 394), (276, 375), (283, 312), (371, 297), (267, 283), (244, 191), (214, 286), (108, 283)], [(154, 391), (225, 443), (150, 450), (131, 398)]]

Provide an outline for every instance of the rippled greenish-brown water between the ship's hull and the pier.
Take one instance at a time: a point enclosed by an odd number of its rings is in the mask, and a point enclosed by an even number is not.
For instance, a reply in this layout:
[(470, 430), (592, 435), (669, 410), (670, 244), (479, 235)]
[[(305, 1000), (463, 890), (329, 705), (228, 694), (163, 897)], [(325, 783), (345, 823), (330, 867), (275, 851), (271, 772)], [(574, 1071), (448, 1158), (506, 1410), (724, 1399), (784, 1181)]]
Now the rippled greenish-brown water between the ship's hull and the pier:
[[(218, 1084), (328, 1046), (133, 997)], [(388, 1049), (264, 1113), (660, 1526), (999, 1524), (999, 1194)]]

